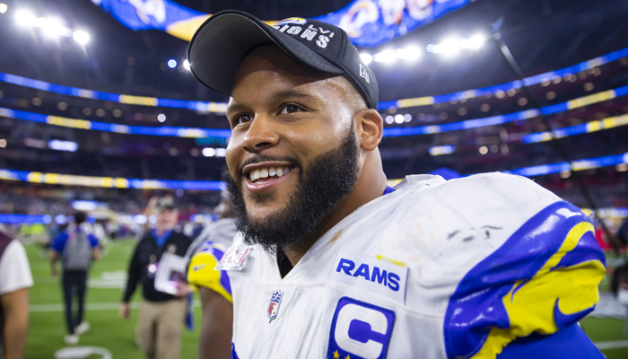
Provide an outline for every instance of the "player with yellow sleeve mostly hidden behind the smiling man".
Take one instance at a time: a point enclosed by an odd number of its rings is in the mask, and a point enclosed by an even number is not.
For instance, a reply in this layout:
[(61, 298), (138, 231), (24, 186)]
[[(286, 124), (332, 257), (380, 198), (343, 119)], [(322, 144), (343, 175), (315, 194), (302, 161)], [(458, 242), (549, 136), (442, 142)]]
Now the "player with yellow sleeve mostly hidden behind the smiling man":
[(233, 223), (233, 206), (229, 192), (221, 193), (221, 202), (214, 209), (218, 220), (207, 223), (203, 232), (188, 250), (188, 282), (201, 296), (203, 322), (198, 343), (201, 359), (228, 359), (231, 357), (231, 328), (233, 300), (226, 271), (214, 270), (225, 250), (231, 246), (238, 230)]

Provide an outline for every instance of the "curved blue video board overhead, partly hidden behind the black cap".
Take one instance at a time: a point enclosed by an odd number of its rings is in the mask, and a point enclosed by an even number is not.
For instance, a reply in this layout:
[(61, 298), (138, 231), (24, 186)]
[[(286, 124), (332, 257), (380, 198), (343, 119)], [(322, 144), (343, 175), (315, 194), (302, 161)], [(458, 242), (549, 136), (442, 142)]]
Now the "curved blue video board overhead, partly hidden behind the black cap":
[[(356, 46), (373, 47), (404, 36), (470, 1), (355, 0), (336, 12), (314, 19), (345, 30)], [(211, 16), (170, 0), (92, 0), (92, 3), (129, 29), (156, 29), (187, 40), (192, 39), (196, 29)]]

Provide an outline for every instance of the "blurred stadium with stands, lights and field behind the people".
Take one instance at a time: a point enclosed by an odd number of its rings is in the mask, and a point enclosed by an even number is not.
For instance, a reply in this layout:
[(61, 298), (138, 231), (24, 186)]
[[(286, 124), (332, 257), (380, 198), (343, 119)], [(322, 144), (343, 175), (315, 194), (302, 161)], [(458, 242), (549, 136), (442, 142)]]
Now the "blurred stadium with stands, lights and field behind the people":
[[(334, 12), (350, 1), (176, 3), (280, 20)], [(129, 30), (88, 0), (3, 4), (0, 222), (27, 243), (35, 278), (26, 357), (54, 357), (64, 347), (60, 288), (44, 246), (74, 209), (83, 209), (104, 229), (107, 255), (91, 273), (92, 330), (81, 346), (139, 358), (137, 313), (124, 321), (117, 309), (134, 239), (151, 222), (144, 206), (171, 194), (188, 232), (211, 218), (228, 138), (221, 112), (227, 98), (188, 72), (185, 40)], [(502, 16), (502, 39), (540, 112), (490, 39)], [(610, 275), (624, 262), (615, 232), (628, 217), (627, 16), (626, 0), (477, 0), (406, 36), (360, 48), (379, 82), (388, 179), (511, 171), (592, 214), (586, 188)], [(89, 41), (73, 31), (85, 31)], [(550, 141), (552, 130), (571, 163)], [(614, 306), (608, 278), (600, 289), (604, 308), (582, 327), (609, 358), (628, 357), (624, 320), (615, 318), (625, 307)], [(185, 334), (182, 357), (196, 357), (197, 339), (198, 328)]]

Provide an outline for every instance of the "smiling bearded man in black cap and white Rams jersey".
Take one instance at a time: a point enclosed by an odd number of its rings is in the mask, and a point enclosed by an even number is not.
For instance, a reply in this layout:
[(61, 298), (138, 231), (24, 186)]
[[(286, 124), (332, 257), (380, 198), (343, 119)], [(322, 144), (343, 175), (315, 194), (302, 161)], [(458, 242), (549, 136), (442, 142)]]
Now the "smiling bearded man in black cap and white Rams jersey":
[(345, 31), (227, 11), (188, 58), (231, 95), (232, 358), (602, 357), (577, 324), (606, 272), (589, 218), (499, 173), (388, 188)]

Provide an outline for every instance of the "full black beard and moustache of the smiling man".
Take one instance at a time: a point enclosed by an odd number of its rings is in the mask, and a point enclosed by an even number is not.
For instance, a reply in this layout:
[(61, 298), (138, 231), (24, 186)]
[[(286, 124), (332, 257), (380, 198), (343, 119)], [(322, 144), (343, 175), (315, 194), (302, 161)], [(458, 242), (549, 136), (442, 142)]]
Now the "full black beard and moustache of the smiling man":
[[(260, 157), (256, 160), (255, 162), (261, 162), (266, 161), (266, 158)], [(306, 236), (313, 234), (323, 218), (351, 192), (358, 180), (358, 145), (353, 133), (353, 123), (338, 148), (321, 154), (312, 162), (307, 178), (300, 163), (295, 165), (299, 169), (299, 185), (288, 204), (259, 221), (251, 221), (247, 215), (240, 188), (243, 176), (241, 167), (236, 180), (231, 177), (228, 169), (222, 171), (222, 179), (227, 184), (235, 211), (236, 227), (242, 232), (245, 243), (259, 244), (269, 253), (275, 253), (277, 248), (294, 249)], [(269, 198), (270, 196), (251, 199), (256, 203), (263, 203)]]

